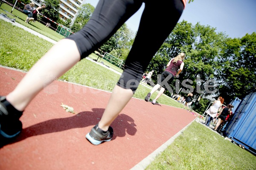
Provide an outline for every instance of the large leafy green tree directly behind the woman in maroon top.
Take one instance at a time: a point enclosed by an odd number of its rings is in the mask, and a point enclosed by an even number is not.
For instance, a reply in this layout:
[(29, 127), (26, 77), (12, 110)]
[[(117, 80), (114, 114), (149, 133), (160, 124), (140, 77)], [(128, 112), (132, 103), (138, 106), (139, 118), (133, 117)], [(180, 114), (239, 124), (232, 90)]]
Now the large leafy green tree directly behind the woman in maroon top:
[[(148, 68), (157, 70), (157, 74), (161, 74), (171, 58), (176, 57), (180, 52), (185, 52), (185, 66), (180, 74), (180, 82), (190, 79), (192, 84), (186, 84), (193, 88), (198, 86), (204, 88), (204, 82), (207, 79), (215, 79), (221, 68), (218, 64), (218, 58), (224, 39), (224, 34), (215, 33), (215, 28), (201, 26), (199, 23), (192, 26), (191, 23), (183, 20), (177, 23), (151, 60)], [(198, 82), (198, 79), (204, 82)], [(195, 91), (201, 93), (201, 88), (195, 88)], [(185, 90), (187, 89), (185, 88)]]

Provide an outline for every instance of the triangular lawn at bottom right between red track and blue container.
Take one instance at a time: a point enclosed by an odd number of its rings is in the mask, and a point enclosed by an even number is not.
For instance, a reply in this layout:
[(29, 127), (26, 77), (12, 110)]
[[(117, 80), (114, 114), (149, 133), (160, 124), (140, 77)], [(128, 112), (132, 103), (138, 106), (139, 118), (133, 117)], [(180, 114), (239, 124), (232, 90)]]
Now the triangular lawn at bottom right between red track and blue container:
[(146, 170), (255, 170), (256, 156), (198, 122), (158, 155)]

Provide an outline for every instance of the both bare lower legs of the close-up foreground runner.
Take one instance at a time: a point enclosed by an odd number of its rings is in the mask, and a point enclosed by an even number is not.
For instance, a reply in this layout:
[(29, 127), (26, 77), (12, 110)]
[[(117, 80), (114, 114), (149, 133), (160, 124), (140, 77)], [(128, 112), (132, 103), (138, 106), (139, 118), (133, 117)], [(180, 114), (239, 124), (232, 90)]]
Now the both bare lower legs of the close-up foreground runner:
[[(59, 41), (29, 70), (15, 90), (6, 96), (6, 99), (17, 110), (23, 111), (46, 85), (64, 74), (79, 60), (80, 53), (73, 40), (64, 39)], [(99, 128), (107, 131), (132, 96), (131, 89), (123, 89), (116, 85), (99, 122)], [(116, 105), (116, 103), (119, 103), (119, 105)]]

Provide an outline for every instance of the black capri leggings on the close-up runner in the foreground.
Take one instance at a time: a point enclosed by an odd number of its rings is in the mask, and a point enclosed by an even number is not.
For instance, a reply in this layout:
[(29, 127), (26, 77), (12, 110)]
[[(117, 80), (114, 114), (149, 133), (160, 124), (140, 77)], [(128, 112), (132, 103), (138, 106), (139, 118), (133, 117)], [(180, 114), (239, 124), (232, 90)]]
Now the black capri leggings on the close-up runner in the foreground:
[(120, 87), (133, 92), (152, 57), (176, 26), (184, 8), (182, 0), (99, 0), (88, 23), (67, 37), (76, 42), (81, 59), (87, 57), (137, 12), (143, 2), (145, 8), (137, 36), (117, 82)]

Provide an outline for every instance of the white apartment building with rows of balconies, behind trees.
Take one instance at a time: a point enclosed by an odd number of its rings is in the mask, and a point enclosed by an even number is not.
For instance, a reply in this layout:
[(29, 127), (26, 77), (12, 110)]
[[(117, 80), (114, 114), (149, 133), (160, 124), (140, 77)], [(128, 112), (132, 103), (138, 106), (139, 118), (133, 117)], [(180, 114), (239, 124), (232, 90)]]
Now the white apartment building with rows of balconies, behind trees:
[[(44, 0), (31, 0), (36, 6), (41, 6), (44, 3)], [(78, 8), (84, 4), (86, 0), (60, 0), (60, 18), (62, 20), (67, 20), (70, 18), (73, 21), (76, 19), (76, 13)]]

